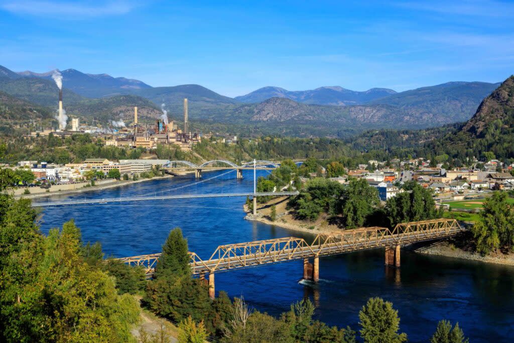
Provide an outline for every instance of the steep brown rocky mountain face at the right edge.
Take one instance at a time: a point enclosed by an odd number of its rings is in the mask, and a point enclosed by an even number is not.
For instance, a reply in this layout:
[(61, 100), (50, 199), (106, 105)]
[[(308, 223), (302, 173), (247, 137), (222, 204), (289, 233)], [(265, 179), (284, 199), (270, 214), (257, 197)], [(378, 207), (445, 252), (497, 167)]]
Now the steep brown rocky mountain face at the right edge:
[[(462, 131), (483, 137), (493, 122), (509, 127), (514, 122), (514, 76), (485, 98)], [(513, 148), (514, 149), (514, 148)]]

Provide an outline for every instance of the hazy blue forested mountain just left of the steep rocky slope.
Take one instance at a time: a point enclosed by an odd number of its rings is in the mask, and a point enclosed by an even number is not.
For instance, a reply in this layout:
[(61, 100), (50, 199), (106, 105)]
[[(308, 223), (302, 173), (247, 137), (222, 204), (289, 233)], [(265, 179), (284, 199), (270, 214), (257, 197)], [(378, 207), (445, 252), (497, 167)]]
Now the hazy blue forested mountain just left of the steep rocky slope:
[(368, 104), (387, 104), (400, 109), (444, 115), (451, 122), (468, 120), (482, 99), (500, 83), (448, 82), (393, 94)]

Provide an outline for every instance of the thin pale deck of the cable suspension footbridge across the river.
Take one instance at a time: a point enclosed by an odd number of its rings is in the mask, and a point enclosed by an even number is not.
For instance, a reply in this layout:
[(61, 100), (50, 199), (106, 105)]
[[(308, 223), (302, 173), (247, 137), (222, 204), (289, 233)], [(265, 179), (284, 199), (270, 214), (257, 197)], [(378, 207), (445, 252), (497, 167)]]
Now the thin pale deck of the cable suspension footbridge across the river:
[(211, 194), (178, 194), (178, 195), (155, 195), (155, 196), (132, 196), (132, 197), (111, 197), (99, 199), (83, 199), (83, 200), (65, 200), (52, 201), (46, 203), (33, 203), (32, 207), (51, 207), (66, 205), (88, 205), (88, 204), (107, 204), (107, 203), (125, 203), (134, 201), (149, 200), (170, 200), (170, 199), (188, 199), (188, 198), (207, 198), (207, 197), (231, 197), (231, 196), (290, 196), (298, 195), (298, 192), (247, 192), (247, 193), (211, 193)]

